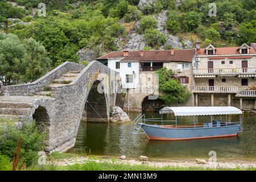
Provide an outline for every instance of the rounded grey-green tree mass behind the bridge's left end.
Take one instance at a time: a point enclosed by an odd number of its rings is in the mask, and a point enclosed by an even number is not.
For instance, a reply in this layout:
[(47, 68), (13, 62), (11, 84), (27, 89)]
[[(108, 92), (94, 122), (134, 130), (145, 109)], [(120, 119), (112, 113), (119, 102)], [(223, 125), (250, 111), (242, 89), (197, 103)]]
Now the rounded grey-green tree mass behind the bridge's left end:
[(34, 39), (20, 42), (13, 34), (0, 34), (0, 80), (3, 85), (35, 81), (49, 69), (44, 47)]

